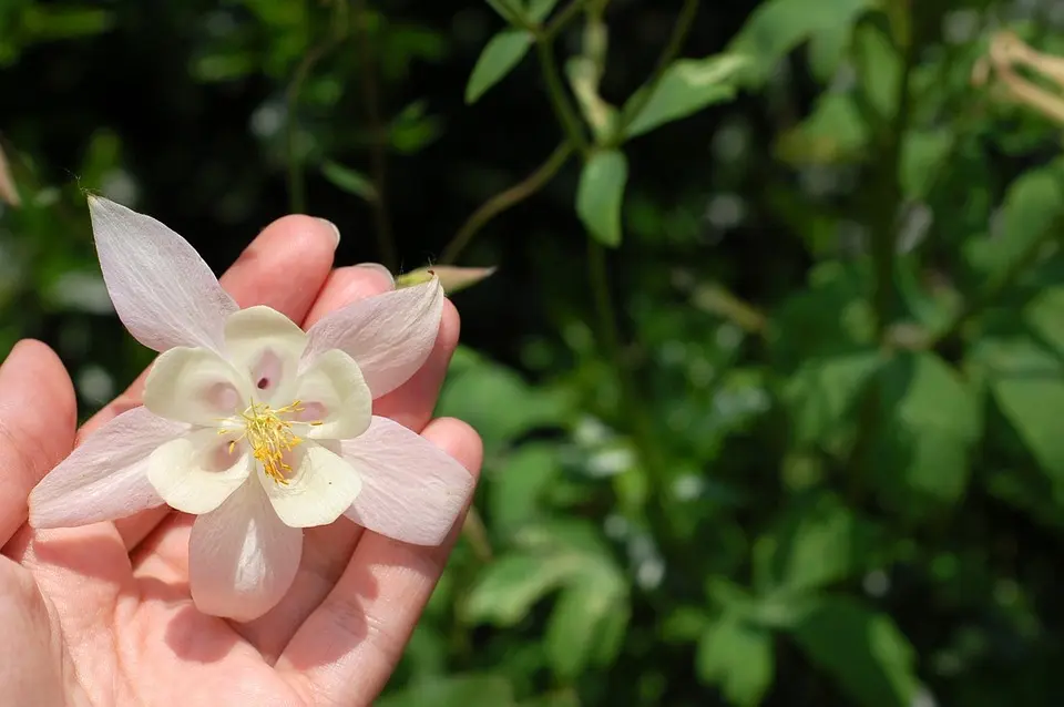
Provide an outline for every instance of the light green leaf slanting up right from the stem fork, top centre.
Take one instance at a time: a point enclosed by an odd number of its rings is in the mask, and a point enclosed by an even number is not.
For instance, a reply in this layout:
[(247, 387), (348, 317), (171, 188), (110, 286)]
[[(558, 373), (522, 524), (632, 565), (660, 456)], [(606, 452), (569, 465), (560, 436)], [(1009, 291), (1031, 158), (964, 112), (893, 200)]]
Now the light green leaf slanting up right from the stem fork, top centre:
[(698, 111), (735, 98), (735, 79), (747, 65), (746, 57), (718, 54), (706, 59), (681, 59), (673, 62), (662, 74), (654, 92), (635, 115), (633, 105), (644, 100), (643, 91), (636, 92), (624, 109), (631, 120), (625, 137), (635, 137), (655, 127), (677, 121)]

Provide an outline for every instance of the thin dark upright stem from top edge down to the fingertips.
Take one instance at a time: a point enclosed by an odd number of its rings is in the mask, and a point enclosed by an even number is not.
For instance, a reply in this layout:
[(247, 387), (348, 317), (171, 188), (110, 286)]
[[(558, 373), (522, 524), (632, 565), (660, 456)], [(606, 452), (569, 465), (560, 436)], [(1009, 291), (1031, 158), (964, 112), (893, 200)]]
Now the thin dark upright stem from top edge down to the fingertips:
[(377, 249), (380, 260), (389, 270), (399, 266), (399, 256), (391, 234), (391, 219), (388, 217), (387, 182), (388, 153), (385, 141), (385, 125), (380, 115), (380, 94), (374, 61), (374, 45), (369, 37), (369, 11), (366, 0), (355, 0), (356, 43), (359, 47), (361, 64), (362, 100), (366, 103), (366, 120), (369, 122), (370, 178), (377, 197), (370, 201), (374, 209), (374, 225), (377, 234)]

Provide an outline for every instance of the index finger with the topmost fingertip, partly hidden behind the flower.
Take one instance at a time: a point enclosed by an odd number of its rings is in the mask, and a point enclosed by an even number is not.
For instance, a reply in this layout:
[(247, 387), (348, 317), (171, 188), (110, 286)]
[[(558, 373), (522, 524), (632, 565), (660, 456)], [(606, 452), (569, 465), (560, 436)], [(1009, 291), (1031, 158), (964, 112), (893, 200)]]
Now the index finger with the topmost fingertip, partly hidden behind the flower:
[[(267, 305), (296, 322), (306, 317), (332, 268), (339, 243), (336, 227), (321, 218), (285, 216), (267, 226), (219, 278), (241, 307)], [(79, 439), (117, 414), (141, 404), (143, 372), (79, 432)], [(152, 509), (115, 523), (132, 549), (166, 518), (168, 506)]]

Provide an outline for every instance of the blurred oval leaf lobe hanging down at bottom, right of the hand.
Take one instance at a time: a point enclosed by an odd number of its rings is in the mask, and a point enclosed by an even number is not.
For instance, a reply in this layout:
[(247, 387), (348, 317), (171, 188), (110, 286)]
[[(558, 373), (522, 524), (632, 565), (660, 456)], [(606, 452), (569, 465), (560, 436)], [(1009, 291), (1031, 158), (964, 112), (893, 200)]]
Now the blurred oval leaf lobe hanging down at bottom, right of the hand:
[(617, 655), (628, 623), (627, 582), (601, 564), (564, 590), (546, 626), (546, 656), (563, 679), (589, 666), (608, 665)]

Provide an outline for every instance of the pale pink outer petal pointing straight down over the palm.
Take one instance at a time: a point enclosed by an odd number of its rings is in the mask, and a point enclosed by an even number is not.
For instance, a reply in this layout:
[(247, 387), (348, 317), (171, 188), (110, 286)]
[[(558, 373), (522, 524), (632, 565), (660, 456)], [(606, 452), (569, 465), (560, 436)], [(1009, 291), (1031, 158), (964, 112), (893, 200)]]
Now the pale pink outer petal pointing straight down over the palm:
[(258, 618), (291, 586), (301, 553), (303, 531), (277, 518), (250, 477), (192, 524), (188, 581), (196, 608), (238, 622)]

